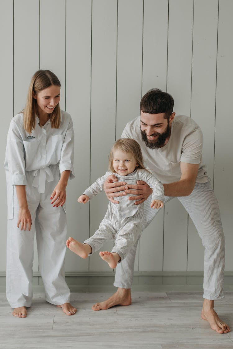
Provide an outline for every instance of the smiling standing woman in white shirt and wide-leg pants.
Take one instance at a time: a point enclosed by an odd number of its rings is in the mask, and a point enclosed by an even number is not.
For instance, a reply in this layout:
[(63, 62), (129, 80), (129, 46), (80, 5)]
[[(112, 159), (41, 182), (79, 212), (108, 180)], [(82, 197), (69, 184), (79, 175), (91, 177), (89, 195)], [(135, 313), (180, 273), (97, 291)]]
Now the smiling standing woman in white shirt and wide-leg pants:
[(35, 230), (45, 299), (67, 315), (76, 312), (65, 282), (63, 207), (68, 178), (74, 178), (74, 132), (70, 115), (59, 107), (60, 86), (50, 70), (38, 70), (25, 109), (12, 119), (7, 135), (6, 294), (13, 315), (20, 318), (32, 303)]

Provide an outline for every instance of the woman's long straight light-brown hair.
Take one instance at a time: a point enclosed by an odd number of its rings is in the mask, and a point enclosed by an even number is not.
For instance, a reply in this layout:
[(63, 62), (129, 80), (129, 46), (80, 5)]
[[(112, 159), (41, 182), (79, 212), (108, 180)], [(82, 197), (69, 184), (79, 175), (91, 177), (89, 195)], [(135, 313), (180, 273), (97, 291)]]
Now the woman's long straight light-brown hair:
[[(37, 70), (32, 76), (28, 89), (27, 102), (23, 110), (23, 127), (28, 133), (31, 133), (36, 125), (37, 101), (33, 98), (33, 95), (50, 86), (61, 86), (58, 77), (50, 70)], [(52, 128), (59, 128), (61, 121), (59, 103), (50, 114), (50, 121)]]

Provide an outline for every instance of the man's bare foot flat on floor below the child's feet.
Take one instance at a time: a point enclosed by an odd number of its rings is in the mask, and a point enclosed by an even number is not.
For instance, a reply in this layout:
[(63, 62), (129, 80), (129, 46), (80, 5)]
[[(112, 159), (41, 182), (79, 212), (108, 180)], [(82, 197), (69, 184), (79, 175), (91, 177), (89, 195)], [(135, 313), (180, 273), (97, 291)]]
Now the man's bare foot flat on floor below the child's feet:
[(130, 305), (131, 304), (131, 289), (118, 288), (117, 292), (104, 302), (92, 305), (92, 310), (106, 310), (115, 305)]

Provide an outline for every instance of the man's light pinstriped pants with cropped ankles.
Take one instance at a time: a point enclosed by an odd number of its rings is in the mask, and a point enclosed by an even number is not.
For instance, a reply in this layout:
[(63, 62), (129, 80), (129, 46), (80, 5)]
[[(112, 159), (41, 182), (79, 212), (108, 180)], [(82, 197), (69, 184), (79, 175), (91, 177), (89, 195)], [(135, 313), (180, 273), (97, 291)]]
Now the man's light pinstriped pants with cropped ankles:
[[(171, 199), (173, 197), (165, 196), (165, 203)], [(196, 183), (193, 192), (189, 196), (179, 196), (178, 200), (193, 220), (205, 247), (203, 298), (212, 300), (223, 298), (225, 244), (215, 193), (209, 182)], [(150, 202), (150, 198), (144, 202), (146, 221), (143, 229), (150, 224), (159, 211), (159, 209), (152, 210)], [(116, 287), (129, 289), (132, 286), (138, 240), (127, 257), (117, 265), (114, 282)]]

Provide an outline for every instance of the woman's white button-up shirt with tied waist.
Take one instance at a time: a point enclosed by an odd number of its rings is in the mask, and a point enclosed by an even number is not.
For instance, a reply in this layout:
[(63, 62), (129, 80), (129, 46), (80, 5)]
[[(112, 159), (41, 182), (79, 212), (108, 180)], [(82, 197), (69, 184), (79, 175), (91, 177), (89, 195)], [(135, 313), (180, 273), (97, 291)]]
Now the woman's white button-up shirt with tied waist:
[(29, 134), (23, 127), (23, 114), (10, 122), (4, 167), (12, 175), (13, 185), (27, 185), (26, 171), (32, 171), (33, 186), (44, 193), (45, 181), (52, 181), (50, 165), (59, 164), (60, 173), (70, 170), (74, 178), (74, 130), (70, 115), (61, 110), (59, 128), (51, 128), (50, 119), (43, 127), (36, 126)]

